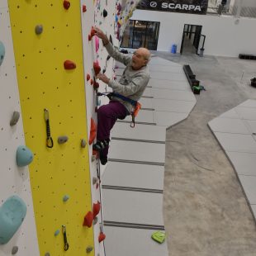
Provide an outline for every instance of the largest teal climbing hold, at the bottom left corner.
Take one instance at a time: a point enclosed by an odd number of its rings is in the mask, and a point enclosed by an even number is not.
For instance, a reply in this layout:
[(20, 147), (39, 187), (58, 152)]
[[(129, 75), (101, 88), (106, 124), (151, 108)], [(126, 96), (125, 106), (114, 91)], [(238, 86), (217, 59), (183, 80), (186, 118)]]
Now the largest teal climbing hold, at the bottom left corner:
[(26, 203), (17, 196), (7, 198), (0, 207), (0, 244), (7, 244), (26, 216)]

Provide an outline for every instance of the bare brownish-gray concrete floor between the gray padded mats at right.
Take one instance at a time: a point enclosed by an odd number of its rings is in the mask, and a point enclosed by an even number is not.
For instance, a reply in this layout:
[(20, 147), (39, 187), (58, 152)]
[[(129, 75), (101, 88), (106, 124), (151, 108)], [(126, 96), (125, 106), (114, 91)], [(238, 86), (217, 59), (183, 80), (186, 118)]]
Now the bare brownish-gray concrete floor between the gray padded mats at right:
[(172, 55), (190, 64), (206, 88), (186, 121), (168, 129), (164, 224), (172, 256), (254, 256), (256, 229), (235, 170), (207, 123), (251, 98), (256, 62), (236, 58)]

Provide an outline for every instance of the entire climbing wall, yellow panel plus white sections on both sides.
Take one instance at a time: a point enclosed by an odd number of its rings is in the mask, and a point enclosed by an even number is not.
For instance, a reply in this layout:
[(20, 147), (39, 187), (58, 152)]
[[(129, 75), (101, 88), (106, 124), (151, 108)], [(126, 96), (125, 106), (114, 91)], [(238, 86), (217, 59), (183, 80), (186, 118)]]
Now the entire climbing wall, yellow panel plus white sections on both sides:
[[(0, 243), (1, 256), (105, 254), (105, 168), (92, 152), (91, 121), (108, 102), (97, 92), (110, 89), (96, 80), (93, 63), (115, 78), (115, 61), (92, 26), (118, 47), (134, 7), (121, 0), (0, 2), (0, 242), (7, 198), (17, 195), (26, 206), (12, 239)], [(14, 111), (20, 118), (10, 126)], [(31, 150), (23, 167), (20, 145)]]

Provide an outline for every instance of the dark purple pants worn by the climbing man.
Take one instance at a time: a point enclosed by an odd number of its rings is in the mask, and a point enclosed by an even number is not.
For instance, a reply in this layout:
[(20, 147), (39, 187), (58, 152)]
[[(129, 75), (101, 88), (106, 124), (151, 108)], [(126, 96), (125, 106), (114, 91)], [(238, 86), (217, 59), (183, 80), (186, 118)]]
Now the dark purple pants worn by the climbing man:
[[(97, 140), (107, 140), (110, 131), (117, 119), (124, 119), (130, 115), (126, 107), (121, 102), (111, 101), (107, 105), (102, 105), (97, 110)], [(107, 158), (108, 146), (101, 151), (101, 157)]]

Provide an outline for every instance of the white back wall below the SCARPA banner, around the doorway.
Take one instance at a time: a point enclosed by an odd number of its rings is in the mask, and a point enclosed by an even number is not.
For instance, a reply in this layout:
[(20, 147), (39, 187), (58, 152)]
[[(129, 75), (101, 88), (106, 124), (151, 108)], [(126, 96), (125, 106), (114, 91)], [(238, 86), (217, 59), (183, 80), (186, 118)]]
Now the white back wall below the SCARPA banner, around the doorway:
[(133, 20), (159, 21), (159, 51), (170, 51), (177, 44), (179, 52), (184, 24), (201, 25), (201, 34), (206, 35), (205, 55), (237, 57), (240, 53), (256, 55), (256, 19), (235, 17), (181, 14), (136, 10)]

